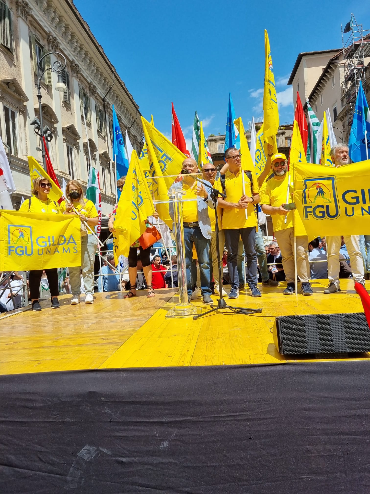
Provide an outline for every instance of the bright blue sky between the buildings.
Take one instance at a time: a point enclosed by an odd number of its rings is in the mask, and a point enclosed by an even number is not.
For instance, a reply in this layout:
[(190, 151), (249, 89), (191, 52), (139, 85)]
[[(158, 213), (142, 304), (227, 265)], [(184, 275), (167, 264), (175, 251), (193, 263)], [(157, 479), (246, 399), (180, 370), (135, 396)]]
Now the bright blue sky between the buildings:
[[(293, 122), (288, 78), (302, 51), (339, 48), (351, 12), (370, 29), (364, 1), (74, 0), (140, 106), (171, 135), (171, 101), (187, 141), (194, 112), (206, 136), (225, 131), (228, 93), (244, 125), (262, 117), (267, 29), (280, 123)], [(104, 4), (104, 8), (102, 8)], [(232, 13), (230, 8), (232, 6)], [(310, 20), (309, 17), (312, 19)]]

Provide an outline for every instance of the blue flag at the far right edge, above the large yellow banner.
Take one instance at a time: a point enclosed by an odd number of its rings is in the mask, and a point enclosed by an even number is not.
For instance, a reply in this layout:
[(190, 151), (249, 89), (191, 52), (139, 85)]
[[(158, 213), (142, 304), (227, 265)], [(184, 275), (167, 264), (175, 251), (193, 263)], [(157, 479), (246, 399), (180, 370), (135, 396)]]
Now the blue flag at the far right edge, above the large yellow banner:
[[(365, 130), (367, 130), (365, 139)], [(366, 101), (362, 82), (360, 81), (359, 92), (357, 93), (355, 111), (353, 113), (353, 122), (351, 134), (349, 136), (349, 156), (354, 163), (368, 160), (366, 156), (366, 145), (370, 155), (370, 112), (369, 105)]]

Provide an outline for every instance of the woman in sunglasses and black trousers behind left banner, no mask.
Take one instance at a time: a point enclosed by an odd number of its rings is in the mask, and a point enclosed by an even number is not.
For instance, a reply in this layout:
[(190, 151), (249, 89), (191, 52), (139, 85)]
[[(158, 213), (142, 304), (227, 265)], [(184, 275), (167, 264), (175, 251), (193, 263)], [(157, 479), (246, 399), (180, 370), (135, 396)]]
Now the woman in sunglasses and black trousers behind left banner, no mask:
[[(34, 180), (33, 189), (31, 191), (34, 197), (26, 200), (19, 208), (20, 211), (31, 213), (47, 213), (47, 214), (59, 214), (59, 204), (55, 201), (48, 199), (48, 194), (52, 184), (48, 178), (37, 177)], [(40, 282), (43, 269), (34, 269), (30, 271), (30, 294), (32, 300), (32, 310), (40, 311), (41, 306), (38, 302), (38, 296), (40, 293)], [(51, 308), (58, 309), (58, 295), (59, 295), (59, 282), (58, 282), (58, 270), (57, 268), (45, 269), (47, 281), (49, 283), (50, 295), (51, 295)]]

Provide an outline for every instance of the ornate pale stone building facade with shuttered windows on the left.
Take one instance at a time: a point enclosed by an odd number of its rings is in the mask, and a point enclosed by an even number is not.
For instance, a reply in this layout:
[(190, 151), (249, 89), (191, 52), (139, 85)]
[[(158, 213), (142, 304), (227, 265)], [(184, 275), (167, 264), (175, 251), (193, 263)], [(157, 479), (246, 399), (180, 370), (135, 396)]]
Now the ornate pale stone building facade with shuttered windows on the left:
[(50, 52), (43, 68), (52, 66), (58, 56), (51, 52), (57, 51), (67, 59), (62, 74), (67, 91), (55, 90), (56, 72), (47, 71), (41, 81), (43, 125), (53, 135), (50, 158), (58, 179), (74, 178), (84, 188), (89, 166), (96, 167), (103, 215), (108, 214), (115, 197), (112, 104), (122, 134), (128, 130), (138, 152), (143, 138), (139, 106), (73, 1), (0, 0), (0, 24), (0, 135), (17, 188), (13, 205), (30, 197), (27, 156), (42, 163), (40, 138), (31, 125), (39, 117), (37, 63)]

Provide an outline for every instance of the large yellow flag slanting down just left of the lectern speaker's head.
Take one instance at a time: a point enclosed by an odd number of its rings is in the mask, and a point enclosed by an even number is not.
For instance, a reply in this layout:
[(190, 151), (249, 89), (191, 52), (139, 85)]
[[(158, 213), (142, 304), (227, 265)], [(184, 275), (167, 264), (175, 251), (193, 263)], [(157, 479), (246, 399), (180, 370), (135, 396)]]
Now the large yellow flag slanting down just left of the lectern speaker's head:
[(152, 178), (152, 193), (154, 201), (165, 201), (156, 204), (157, 213), (166, 225), (172, 228), (173, 221), (168, 210), (168, 189), (174, 183), (175, 177), (182, 169), (185, 155), (165, 138), (153, 125), (149, 124), (144, 117), (141, 118), (147, 143), (148, 161), (150, 165), (150, 176), (164, 178)]

